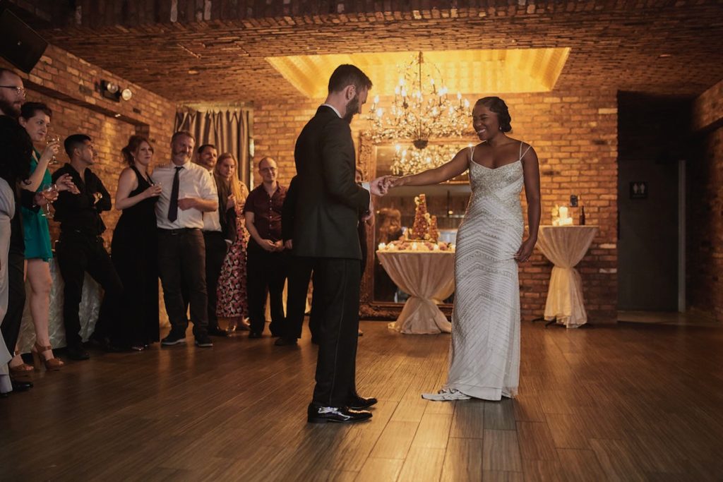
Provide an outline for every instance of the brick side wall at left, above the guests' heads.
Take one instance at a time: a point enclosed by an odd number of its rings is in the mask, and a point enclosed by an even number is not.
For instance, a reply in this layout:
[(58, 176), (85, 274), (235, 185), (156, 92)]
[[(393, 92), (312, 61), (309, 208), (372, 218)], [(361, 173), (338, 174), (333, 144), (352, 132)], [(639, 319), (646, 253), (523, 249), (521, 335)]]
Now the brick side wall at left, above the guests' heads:
[[(0, 66), (11, 68), (5, 61)], [(83, 133), (93, 138), (99, 161), (91, 170), (103, 180), (106, 189), (115, 196), (118, 176), (124, 164), (121, 148), (132, 134), (149, 137), (155, 147), (155, 162), (170, 158), (170, 141), (173, 134), (176, 105), (160, 95), (121, 79), (111, 72), (79, 59), (67, 51), (49, 46), (30, 74), (22, 74), (27, 88), (27, 100), (47, 103), (53, 110), (50, 132), (64, 139), (69, 134)], [(133, 97), (129, 101), (103, 98), (95, 91), (100, 79), (129, 87)], [(44, 146), (37, 146), (42, 150)], [(64, 152), (58, 156), (59, 165), (68, 158)], [(120, 212), (103, 213), (108, 230), (103, 233), (108, 246)], [(51, 222), (53, 240), (59, 234), (57, 223)]]

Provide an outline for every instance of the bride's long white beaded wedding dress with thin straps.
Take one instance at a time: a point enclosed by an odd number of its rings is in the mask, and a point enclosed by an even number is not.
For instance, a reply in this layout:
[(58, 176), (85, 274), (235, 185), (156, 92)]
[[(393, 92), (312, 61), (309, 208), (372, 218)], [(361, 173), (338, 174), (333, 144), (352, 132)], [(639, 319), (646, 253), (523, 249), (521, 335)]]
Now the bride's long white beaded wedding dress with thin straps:
[(522, 147), (518, 160), (494, 169), (474, 162), (470, 147), (472, 195), (457, 233), (449, 374), (440, 392), (422, 395), (427, 400), (500, 400), (517, 393), (520, 290), (514, 256), (524, 229)]

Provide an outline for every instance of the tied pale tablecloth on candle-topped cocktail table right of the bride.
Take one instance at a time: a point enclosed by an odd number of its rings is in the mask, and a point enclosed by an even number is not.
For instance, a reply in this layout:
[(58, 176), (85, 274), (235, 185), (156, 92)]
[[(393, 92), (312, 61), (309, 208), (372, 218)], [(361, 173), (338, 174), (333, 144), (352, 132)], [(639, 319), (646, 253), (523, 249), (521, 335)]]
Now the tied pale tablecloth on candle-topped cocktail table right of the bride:
[(537, 247), (555, 264), (549, 278), (544, 319), (577, 328), (586, 324), (580, 273), (574, 268), (590, 247), (596, 226), (540, 226)]

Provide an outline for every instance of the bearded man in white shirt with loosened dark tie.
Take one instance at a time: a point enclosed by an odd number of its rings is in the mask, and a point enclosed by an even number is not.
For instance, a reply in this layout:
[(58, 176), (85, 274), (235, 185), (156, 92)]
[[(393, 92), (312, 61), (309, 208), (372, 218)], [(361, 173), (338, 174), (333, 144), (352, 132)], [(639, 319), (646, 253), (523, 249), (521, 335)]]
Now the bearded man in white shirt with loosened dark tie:
[(201, 230), (204, 213), (218, 210), (218, 194), (208, 171), (191, 163), (195, 143), (189, 132), (176, 132), (171, 138), (171, 163), (153, 171), (153, 180), (161, 186), (155, 204), (158, 270), (171, 322), (171, 332), (161, 340), (164, 346), (186, 342), (188, 319), (183, 288), (191, 305), (196, 346), (213, 346), (208, 337), (206, 257)]

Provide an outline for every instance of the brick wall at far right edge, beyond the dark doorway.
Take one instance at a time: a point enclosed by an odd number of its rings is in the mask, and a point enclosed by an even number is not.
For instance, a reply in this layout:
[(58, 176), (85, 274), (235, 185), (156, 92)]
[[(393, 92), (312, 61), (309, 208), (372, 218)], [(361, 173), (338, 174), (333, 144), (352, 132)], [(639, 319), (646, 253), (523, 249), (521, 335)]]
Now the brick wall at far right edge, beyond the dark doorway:
[(693, 104), (688, 163), (687, 290), (690, 309), (723, 321), (723, 82)]

